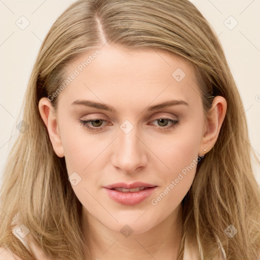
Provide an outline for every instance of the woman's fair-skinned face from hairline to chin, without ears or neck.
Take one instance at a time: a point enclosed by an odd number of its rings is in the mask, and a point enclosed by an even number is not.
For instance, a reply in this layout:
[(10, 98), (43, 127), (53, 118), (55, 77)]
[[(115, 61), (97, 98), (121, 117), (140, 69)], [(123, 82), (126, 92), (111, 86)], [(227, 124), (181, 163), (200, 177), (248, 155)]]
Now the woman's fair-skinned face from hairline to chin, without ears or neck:
[(202, 99), (192, 67), (173, 54), (99, 50), (68, 67), (66, 78), (76, 76), (58, 95), (52, 143), (89, 217), (143, 233), (176, 212), (192, 184), (205, 148)]

